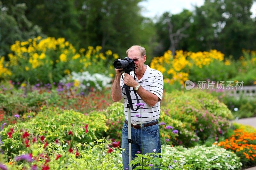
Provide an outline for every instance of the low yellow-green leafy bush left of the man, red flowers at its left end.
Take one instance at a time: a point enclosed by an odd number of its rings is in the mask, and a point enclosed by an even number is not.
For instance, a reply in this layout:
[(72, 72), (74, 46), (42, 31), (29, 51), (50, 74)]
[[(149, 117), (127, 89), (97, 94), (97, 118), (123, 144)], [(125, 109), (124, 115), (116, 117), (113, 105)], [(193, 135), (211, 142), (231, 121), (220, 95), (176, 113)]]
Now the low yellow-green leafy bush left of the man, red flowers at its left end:
[[(34, 113), (35, 114), (35, 113)], [(90, 116), (83, 115), (73, 110), (60, 110), (58, 108), (43, 107), (35, 117), (27, 118), (26, 122), (19, 122), (9, 125), (0, 132), (3, 144), (1, 149), (9, 156), (17, 155), (19, 151), (26, 150), (22, 136), (25, 132), (33, 135), (34, 140), (47, 141), (48, 143), (58, 141), (73, 141), (73, 143), (92, 142), (101, 138), (104, 131), (107, 131), (105, 115), (92, 112)], [(17, 118), (19, 119), (19, 118)], [(72, 132), (74, 136), (69, 135)], [(7, 135), (11, 134), (11, 135)], [(45, 140), (39, 138), (44, 136)], [(29, 141), (28, 144), (31, 144)]]

